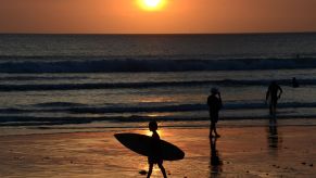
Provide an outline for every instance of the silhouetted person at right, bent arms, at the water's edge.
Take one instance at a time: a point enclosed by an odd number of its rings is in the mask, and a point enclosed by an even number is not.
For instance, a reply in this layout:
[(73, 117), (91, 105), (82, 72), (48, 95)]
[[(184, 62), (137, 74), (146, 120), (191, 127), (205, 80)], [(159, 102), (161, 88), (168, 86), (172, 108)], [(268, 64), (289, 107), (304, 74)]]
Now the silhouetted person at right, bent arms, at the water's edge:
[(270, 115), (276, 114), (278, 100), (281, 98), (283, 90), (276, 81), (273, 81), (266, 92), (266, 102), (269, 104)]

